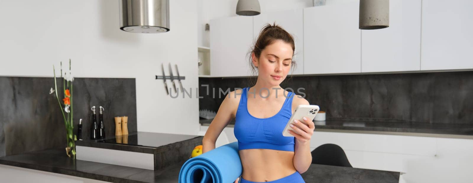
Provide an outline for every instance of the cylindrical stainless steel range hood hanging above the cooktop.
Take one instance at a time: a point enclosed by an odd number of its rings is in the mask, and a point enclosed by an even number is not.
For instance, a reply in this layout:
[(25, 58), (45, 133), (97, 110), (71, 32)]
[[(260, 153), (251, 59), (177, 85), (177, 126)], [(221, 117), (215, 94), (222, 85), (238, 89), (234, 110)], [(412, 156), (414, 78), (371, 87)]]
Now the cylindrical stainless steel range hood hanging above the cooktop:
[(120, 0), (120, 29), (131, 33), (169, 31), (169, 0)]

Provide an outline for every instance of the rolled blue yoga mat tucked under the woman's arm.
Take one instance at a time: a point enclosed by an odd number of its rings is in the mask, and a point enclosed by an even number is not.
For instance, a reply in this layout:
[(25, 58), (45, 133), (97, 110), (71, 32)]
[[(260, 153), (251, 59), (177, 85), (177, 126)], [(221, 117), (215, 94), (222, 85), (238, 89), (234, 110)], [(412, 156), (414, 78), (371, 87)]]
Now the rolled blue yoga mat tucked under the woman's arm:
[(242, 171), (238, 142), (233, 142), (187, 160), (179, 183), (233, 183)]

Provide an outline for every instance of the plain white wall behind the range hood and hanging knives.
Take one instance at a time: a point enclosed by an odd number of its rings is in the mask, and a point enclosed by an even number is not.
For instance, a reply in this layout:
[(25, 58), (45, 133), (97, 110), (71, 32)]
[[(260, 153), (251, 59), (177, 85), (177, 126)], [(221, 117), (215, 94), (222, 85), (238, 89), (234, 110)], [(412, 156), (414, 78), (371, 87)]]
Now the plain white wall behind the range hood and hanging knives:
[[(197, 1), (169, 3), (171, 31), (141, 34), (119, 29), (118, 0), (1, 0), (0, 75), (52, 77), (71, 58), (76, 77), (136, 78), (138, 131), (197, 134)], [(193, 98), (172, 99), (155, 80), (169, 62)]]

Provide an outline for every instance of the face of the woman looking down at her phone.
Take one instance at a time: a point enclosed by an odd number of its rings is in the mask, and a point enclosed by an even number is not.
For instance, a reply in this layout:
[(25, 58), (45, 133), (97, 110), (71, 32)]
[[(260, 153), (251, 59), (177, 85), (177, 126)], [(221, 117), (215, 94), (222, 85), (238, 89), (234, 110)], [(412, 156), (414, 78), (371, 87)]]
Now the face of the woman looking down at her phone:
[(262, 79), (273, 86), (282, 83), (291, 70), (292, 55), (291, 45), (281, 40), (266, 46), (259, 59), (253, 53), (253, 64), (258, 67), (258, 80)]

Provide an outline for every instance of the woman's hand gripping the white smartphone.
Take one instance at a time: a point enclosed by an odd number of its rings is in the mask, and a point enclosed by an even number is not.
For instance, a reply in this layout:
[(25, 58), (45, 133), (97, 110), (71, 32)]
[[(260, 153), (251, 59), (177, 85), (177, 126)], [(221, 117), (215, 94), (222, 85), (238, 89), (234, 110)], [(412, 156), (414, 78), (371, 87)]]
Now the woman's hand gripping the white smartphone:
[(295, 119), (290, 124), (290, 127), (293, 130), (289, 130), (289, 133), (294, 135), (297, 141), (305, 143), (312, 138), (312, 134), (314, 134), (315, 125), (314, 125), (314, 122), (307, 119), (306, 117), (303, 117), (303, 120), (305, 124)]

